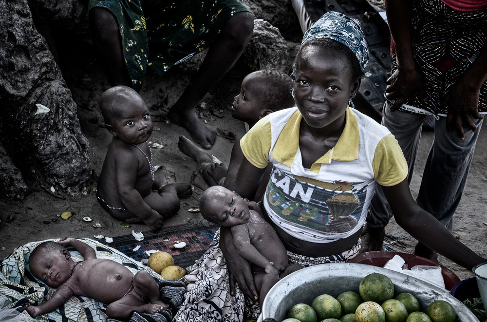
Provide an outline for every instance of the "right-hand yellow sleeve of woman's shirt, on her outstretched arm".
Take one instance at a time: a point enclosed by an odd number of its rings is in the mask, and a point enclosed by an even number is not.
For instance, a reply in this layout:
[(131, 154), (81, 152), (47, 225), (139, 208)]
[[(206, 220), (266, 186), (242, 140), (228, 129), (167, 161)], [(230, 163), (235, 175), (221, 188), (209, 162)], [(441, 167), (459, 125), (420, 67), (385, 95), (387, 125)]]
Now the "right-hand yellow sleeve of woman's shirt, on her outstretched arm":
[(380, 140), (375, 148), (374, 161), (375, 181), (381, 186), (395, 186), (408, 176), (408, 164), (393, 134)]

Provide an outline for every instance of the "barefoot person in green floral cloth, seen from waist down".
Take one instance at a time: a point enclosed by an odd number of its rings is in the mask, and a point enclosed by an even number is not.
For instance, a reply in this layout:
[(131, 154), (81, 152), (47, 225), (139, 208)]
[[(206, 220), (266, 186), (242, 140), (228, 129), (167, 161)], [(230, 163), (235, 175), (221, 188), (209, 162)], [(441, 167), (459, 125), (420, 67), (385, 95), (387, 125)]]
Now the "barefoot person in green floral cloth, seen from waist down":
[(210, 149), (216, 136), (199, 121), (196, 106), (249, 42), (254, 20), (248, 9), (239, 0), (90, 0), (88, 11), (94, 45), (111, 86), (139, 91), (147, 66), (162, 75), (210, 47), (168, 114), (171, 122)]

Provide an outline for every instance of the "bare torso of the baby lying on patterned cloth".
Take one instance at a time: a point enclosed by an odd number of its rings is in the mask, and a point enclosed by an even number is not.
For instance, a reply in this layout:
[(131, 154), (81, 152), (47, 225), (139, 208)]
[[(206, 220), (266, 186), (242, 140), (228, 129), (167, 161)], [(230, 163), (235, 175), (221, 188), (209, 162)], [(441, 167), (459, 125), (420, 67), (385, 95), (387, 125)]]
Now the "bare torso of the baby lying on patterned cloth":
[(130, 289), (134, 274), (109, 259), (90, 259), (79, 263), (66, 281), (75, 295), (93, 298), (105, 304), (121, 299)]

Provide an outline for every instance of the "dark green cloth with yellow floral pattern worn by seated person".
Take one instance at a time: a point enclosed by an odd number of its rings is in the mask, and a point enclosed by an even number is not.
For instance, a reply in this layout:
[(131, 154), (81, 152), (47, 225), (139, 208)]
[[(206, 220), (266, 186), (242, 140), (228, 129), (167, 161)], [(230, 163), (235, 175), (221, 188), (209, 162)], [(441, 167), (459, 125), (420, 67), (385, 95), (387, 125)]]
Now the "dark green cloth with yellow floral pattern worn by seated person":
[(157, 12), (143, 11), (140, 0), (90, 0), (88, 11), (112, 12), (122, 35), (132, 86), (140, 90), (147, 66), (163, 74), (209, 47), (236, 13), (248, 11), (239, 0), (170, 0)]

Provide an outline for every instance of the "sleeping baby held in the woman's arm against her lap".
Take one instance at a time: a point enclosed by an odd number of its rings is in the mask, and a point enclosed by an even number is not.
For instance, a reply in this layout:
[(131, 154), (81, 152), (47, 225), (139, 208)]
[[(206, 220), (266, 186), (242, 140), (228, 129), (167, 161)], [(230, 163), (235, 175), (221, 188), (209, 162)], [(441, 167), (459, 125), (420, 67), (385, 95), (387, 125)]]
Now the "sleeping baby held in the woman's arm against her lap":
[(237, 252), (251, 264), (261, 306), (274, 284), (302, 268), (299, 264), (288, 266), (286, 248), (257, 203), (213, 186), (201, 195), (200, 211), (206, 220), (231, 229)]

